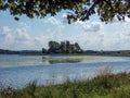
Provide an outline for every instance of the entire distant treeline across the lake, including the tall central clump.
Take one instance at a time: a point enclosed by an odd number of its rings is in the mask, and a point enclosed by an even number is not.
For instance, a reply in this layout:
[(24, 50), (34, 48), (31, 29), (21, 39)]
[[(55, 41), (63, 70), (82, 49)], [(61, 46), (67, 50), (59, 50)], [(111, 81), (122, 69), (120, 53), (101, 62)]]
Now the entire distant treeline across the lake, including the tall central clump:
[(42, 48), (42, 50), (5, 50), (0, 49), (0, 54), (88, 54), (88, 56), (127, 56), (130, 57), (130, 50), (112, 50), (112, 51), (94, 51), (94, 50), (83, 50), (80, 48), (78, 42), (70, 44), (67, 41), (49, 41), (49, 48)]

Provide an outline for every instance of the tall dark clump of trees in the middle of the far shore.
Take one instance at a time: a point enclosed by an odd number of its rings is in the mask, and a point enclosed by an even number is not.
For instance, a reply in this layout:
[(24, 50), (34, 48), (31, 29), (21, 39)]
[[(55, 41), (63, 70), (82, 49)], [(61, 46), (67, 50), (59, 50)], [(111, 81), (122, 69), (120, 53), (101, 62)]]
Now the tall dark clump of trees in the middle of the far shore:
[(82, 53), (82, 49), (78, 42), (70, 44), (69, 41), (49, 41), (49, 49), (42, 48), (42, 53)]

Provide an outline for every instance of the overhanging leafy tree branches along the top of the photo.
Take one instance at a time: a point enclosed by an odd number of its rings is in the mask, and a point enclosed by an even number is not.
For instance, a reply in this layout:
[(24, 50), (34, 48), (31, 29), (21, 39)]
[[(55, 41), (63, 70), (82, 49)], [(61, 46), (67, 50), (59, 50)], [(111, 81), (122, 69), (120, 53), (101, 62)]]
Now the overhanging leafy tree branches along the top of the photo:
[(30, 19), (44, 17), (67, 10), (68, 23), (87, 21), (92, 14), (98, 14), (103, 22), (109, 22), (115, 16), (119, 21), (130, 17), (130, 0), (0, 0), (0, 10), (9, 10), (17, 21), (23, 14)]

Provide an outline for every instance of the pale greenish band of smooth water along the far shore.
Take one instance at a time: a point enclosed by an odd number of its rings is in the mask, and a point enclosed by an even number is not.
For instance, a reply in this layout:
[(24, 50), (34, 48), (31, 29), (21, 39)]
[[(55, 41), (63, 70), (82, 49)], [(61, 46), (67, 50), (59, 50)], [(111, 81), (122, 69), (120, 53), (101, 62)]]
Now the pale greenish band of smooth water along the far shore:
[(126, 62), (126, 57), (96, 56), (0, 56), (0, 66), (48, 65), (57, 63)]

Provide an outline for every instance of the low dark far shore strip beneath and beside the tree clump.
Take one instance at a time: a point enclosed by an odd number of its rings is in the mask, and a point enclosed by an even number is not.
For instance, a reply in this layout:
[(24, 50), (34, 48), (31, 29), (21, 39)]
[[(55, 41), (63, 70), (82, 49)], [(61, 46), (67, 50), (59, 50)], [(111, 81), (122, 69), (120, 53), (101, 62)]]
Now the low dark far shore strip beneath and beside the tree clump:
[(78, 53), (43, 52), (42, 50), (4, 50), (0, 49), (0, 54), (20, 56), (106, 56), (106, 57), (130, 57), (130, 50), (83, 50)]

